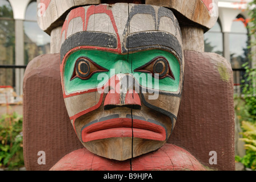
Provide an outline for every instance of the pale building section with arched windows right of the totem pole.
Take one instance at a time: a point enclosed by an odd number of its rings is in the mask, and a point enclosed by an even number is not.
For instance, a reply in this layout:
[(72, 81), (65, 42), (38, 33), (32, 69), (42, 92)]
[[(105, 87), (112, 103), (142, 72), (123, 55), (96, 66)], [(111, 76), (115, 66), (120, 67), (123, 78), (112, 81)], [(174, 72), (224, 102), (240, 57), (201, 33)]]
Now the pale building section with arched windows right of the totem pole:
[(215, 52), (230, 61), (234, 74), (234, 93), (240, 94), (241, 81), (245, 78), (243, 64), (255, 67), (255, 60), (249, 61), (250, 35), (247, 29), (250, 17), (247, 5), (250, 0), (219, 1), (219, 18), (210, 31), (205, 34), (205, 51)]

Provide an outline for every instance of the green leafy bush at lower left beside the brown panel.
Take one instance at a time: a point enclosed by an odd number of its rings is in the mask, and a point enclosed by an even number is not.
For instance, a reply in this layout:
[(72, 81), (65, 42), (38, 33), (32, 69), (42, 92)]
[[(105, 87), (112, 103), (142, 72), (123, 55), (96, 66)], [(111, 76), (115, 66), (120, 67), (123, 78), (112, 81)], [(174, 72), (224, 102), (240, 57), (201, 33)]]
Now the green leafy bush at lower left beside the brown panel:
[(24, 166), (22, 117), (5, 114), (0, 118), (0, 167), (14, 169)]

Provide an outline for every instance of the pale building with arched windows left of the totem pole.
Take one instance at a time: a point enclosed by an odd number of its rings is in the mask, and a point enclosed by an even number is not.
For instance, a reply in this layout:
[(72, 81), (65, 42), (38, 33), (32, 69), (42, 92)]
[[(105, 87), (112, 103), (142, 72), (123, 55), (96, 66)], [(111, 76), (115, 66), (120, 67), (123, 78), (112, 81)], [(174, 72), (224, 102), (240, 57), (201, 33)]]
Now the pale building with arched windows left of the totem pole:
[(37, 2), (0, 0), (0, 86), (13, 86), (21, 96), (25, 66), (45, 53), (50, 36), (37, 24)]

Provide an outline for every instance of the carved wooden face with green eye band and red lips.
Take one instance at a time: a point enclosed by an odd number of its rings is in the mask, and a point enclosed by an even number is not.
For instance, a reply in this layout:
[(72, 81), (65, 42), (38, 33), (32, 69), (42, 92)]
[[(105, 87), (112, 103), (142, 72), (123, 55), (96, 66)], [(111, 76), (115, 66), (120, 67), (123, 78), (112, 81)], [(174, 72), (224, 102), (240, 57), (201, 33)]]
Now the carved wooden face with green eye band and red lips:
[(183, 82), (179, 24), (163, 7), (78, 7), (62, 28), (63, 97), (75, 133), (94, 154), (126, 160), (173, 131)]

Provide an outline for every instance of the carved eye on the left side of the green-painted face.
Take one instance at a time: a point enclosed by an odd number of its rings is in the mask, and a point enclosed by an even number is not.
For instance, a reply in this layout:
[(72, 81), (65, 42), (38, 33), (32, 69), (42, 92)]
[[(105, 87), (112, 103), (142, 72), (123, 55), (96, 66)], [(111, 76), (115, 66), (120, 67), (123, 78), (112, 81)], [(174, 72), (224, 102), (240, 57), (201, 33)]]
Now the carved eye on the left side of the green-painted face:
[(82, 80), (88, 80), (98, 72), (107, 72), (106, 68), (99, 66), (87, 57), (81, 57), (75, 62), (75, 68), (70, 80), (78, 77)]

